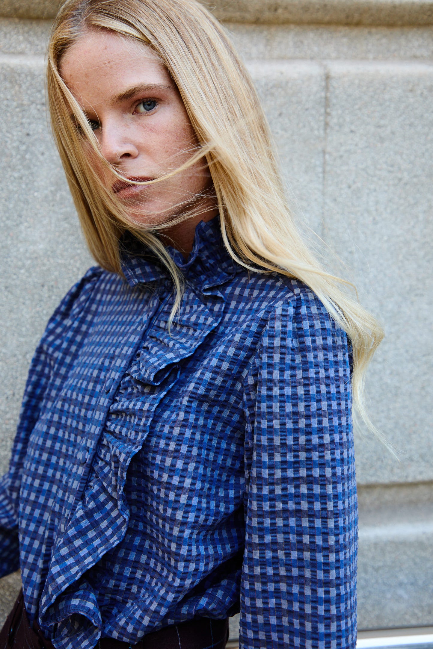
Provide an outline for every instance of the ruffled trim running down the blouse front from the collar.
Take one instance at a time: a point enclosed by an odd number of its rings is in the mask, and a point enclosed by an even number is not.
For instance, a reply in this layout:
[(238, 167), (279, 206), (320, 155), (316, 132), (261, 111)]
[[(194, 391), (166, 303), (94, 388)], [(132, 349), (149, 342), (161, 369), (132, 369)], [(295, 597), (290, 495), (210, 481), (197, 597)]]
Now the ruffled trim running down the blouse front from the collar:
[[(142, 424), (134, 426), (134, 439), (116, 437), (103, 430), (93, 460), (92, 477), (66, 530), (56, 541), (42, 593), (39, 623), (57, 649), (90, 648), (101, 635), (97, 596), (85, 573), (125, 536), (129, 506), (123, 489), (130, 461), (149, 434), (160, 400), (177, 381), (180, 362), (195, 352), (221, 320), (224, 300), (217, 287), (232, 278), (236, 266), (221, 250), (220, 238), (217, 222), (201, 223), (190, 260), (185, 263), (177, 251), (172, 252), (186, 275), (179, 314), (168, 332), (167, 320), (173, 304), (169, 295), (147, 328), (142, 347), (128, 371), (141, 384)], [(140, 261), (133, 258), (127, 266), (125, 277), (130, 286), (140, 283), (136, 282), (137, 277), (143, 281), (152, 276), (155, 281), (155, 269), (147, 261), (140, 265)], [(206, 296), (206, 304), (200, 299), (200, 293)], [(118, 371), (118, 384), (124, 372), (125, 369)], [(168, 607), (169, 592), (162, 594), (163, 608), (164, 600)]]

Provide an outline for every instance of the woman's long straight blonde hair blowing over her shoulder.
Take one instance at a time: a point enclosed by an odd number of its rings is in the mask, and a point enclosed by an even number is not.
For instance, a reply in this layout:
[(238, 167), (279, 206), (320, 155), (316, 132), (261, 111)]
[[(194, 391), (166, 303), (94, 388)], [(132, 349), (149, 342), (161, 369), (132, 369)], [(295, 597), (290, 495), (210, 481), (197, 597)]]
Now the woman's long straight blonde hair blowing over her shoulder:
[(351, 297), (347, 282), (325, 271), (295, 226), (253, 82), (223, 27), (196, 0), (68, 0), (53, 25), (47, 67), (51, 121), (95, 260), (108, 271), (121, 272), (119, 239), (125, 230), (132, 231), (166, 264), (179, 304), (182, 278), (164, 245), (127, 221), (80, 144), (84, 134), (97, 149), (86, 117), (62, 80), (60, 62), (86, 29), (134, 38), (160, 56), (199, 141), (190, 164), (204, 156), (209, 165), (227, 250), (248, 269), (298, 278), (323, 302), (349, 336), (354, 404), (375, 431), (365, 411), (364, 378), (382, 328)]

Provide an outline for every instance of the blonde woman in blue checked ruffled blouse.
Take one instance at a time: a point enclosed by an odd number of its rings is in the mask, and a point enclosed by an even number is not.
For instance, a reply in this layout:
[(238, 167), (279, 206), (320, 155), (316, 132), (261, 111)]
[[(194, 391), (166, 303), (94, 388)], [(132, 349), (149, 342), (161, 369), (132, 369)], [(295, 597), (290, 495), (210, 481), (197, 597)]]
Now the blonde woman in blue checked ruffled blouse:
[(195, 0), (69, 0), (48, 93), (99, 265), (32, 361), (3, 644), (223, 648), (240, 611), (245, 649), (353, 648), (351, 402), (381, 332), (293, 225), (225, 32)]

